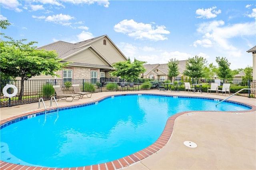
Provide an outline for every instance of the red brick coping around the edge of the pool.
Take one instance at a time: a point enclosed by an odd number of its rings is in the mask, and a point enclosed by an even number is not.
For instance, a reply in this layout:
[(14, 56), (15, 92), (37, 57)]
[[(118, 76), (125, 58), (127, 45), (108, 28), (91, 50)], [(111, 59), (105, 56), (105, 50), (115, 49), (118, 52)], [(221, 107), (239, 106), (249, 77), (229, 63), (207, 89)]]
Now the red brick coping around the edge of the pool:
[[(143, 93), (138, 93), (138, 94), (143, 94)], [(132, 94), (132, 95), (134, 95), (134, 94)], [(146, 95), (150, 95), (150, 94), (146, 94)], [(155, 94), (152, 94), (152, 95), (155, 95)], [(88, 103), (95, 103), (96, 101), (100, 101), (100, 100), (105, 99), (110, 96), (113, 96), (113, 95), (101, 97), (100, 99), (97, 99), (93, 102), (90, 101), (90, 102), (79, 103), (79, 104), (74, 104), (74, 105), (65, 105), (65, 106), (61, 106), (59, 108), (71, 107), (71, 106), (76, 106), (76, 105), (84, 105), (84, 104), (88, 104)], [(164, 95), (164, 96), (172, 96), (172, 95)], [(184, 97), (184, 96), (182, 96), (182, 97)], [(190, 97), (190, 98), (194, 98), (194, 97)], [(205, 97), (196, 97), (196, 98), (205, 98)], [(222, 100), (222, 99), (220, 99), (220, 100)], [(237, 102), (237, 101), (234, 101), (234, 102), (242, 103), (242, 102)], [(235, 111), (236, 113), (256, 111), (256, 106), (250, 105), (248, 103), (242, 103), (242, 104), (248, 105), (248, 106), (252, 107), (252, 109), (246, 110), (246, 111)], [(57, 109), (57, 107), (53, 107), (53, 108), (46, 109), (46, 110), (50, 111), (50, 110), (54, 110), (54, 109)], [(44, 109), (41, 109), (38, 111), (32, 111), (32, 112), (28, 112), (28, 113), (23, 113), (21, 115), (17, 115), (17, 116), (8, 118), (8, 119), (4, 119), (4, 120), (0, 121), (0, 125), (4, 125), (5, 123), (13, 121), (15, 119), (25, 117), (28, 115), (33, 115), (33, 114), (40, 113), (40, 112), (44, 112)], [(136, 163), (136, 162), (139, 162), (139, 161), (143, 160), (144, 158), (147, 158), (148, 156), (156, 153), (158, 150), (163, 148), (168, 143), (168, 141), (170, 140), (170, 138), (172, 136), (176, 118), (179, 117), (180, 115), (184, 115), (184, 114), (191, 113), (191, 112), (194, 113), (194, 112), (202, 112), (202, 111), (186, 111), (186, 112), (177, 113), (177, 114), (169, 117), (162, 134), (160, 135), (158, 140), (156, 140), (156, 142), (154, 142), (147, 148), (144, 148), (138, 152), (135, 152), (133, 154), (130, 154), (130, 155), (120, 158), (118, 160), (113, 160), (113, 161), (102, 163), (102, 164), (95, 164), (95, 165), (90, 165), (90, 166), (81, 166), (81, 167), (74, 167), (74, 168), (48, 168), (48, 167), (37, 167), (37, 166), (24, 166), (24, 165), (19, 165), (19, 164), (12, 164), (12, 163), (8, 163), (8, 162), (0, 160), (0, 169), (1, 170), (118, 170), (118, 169), (122, 169), (122, 168), (125, 168), (129, 165)], [(214, 112), (214, 111), (203, 111), (203, 112)], [(229, 112), (230, 113), (230, 111), (217, 111), (217, 112)]]

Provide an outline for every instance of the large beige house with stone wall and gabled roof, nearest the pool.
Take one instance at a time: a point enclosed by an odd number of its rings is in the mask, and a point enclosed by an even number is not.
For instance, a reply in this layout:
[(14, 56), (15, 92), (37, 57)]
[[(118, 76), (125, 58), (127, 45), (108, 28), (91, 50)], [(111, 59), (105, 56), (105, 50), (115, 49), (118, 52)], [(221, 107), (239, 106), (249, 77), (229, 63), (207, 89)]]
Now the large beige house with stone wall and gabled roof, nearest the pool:
[[(68, 61), (68, 67), (56, 72), (57, 79), (91, 79), (96, 82), (100, 77), (110, 77), (109, 71), (114, 70), (113, 63), (126, 61), (126, 56), (110, 40), (107, 35), (92, 38), (78, 43), (58, 41), (39, 47), (48, 51), (55, 50), (58, 58)], [(36, 76), (32, 79), (53, 79), (52, 76)]]

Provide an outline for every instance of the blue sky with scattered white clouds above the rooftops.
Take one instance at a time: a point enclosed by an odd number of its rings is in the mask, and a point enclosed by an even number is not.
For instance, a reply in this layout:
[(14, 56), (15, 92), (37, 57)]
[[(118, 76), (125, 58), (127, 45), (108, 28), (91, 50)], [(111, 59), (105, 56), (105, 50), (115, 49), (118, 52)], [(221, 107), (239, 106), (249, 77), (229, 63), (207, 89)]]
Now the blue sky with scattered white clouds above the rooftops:
[(148, 64), (198, 55), (245, 68), (256, 45), (255, 0), (1, 0), (0, 8), (12, 24), (1, 32), (14, 40), (40, 47), (108, 35), (126, 57)]

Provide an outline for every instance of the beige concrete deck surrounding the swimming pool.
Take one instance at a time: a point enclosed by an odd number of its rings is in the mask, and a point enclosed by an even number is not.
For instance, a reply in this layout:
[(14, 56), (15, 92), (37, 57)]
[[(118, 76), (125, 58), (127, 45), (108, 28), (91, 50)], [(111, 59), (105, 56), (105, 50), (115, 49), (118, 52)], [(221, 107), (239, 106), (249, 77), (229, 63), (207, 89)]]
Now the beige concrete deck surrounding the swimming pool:
[[(59, 106), (73, 105), (96, 101), (105, 96), (127, 93), (150, 93), (160, 95), (210, 97), (225, 99), (225, 95), (215, 93), (184, 93), (184, 91), (123, 91), (93, 93), (91, 98), (84, 97), (78, 101), (58, 101)], [(229, 100), (247, 103), (253, 108), (244, 112), (191, 112), (175, 119), (170, 140), (156, 153), (130, 166), (122, 167), (125, 170), (180, 170), (180, 169), (256, 169), (256, 99), (233, 96)], [(49, 108), (50, 101), (45, 101)], [(55, 103), (52, 103), (56, 107)], [(16, 115), (42, 110), (41, 103), (19, 105), (0, 108), (0, 120), (9, 119)], [(184, 141), (192, 141), (196, 148), (189, 148)], [(32, 167), (31, 167), (32, 168)], [(1, 161), (0, 169), (10, 169)], [(11, 168), (15, 169), (15, 168)], [(40, 169), (40, 168), (39, 168)], [(54, 169), (54, 168), (51, 168)], [(91, 169), (94, 169), (91, 166)], [(102, 168), (106, 169), (106, 168)]]

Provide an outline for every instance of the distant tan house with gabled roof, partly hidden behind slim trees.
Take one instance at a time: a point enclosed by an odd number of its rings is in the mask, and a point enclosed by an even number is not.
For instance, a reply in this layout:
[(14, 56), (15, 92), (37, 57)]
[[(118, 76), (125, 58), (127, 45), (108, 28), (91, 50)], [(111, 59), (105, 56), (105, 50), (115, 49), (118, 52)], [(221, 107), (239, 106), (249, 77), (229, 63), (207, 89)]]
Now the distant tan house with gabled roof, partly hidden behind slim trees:
[[(165, 79), (170, 79), (168, 76), (168, 65), (167, 64), (144, 64), (146, 69), (145, 73), (142, 73), (141, 78), (148, 79), (160, 79), (164, 81)], [(176, 81), (181, 80), (182, 73), (186, 69), (186, 60), (179, 61), (178, 64), (180, 74), (175, 77)]]

